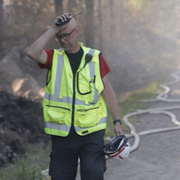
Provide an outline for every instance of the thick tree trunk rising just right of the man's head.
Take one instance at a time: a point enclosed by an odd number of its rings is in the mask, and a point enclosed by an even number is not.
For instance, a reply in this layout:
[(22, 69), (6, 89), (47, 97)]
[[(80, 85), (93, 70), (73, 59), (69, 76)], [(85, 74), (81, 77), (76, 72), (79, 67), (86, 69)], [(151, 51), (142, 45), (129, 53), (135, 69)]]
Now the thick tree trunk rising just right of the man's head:
[(94, 3), (93, 0), (86, 0), (86, 46), (94, 47)]

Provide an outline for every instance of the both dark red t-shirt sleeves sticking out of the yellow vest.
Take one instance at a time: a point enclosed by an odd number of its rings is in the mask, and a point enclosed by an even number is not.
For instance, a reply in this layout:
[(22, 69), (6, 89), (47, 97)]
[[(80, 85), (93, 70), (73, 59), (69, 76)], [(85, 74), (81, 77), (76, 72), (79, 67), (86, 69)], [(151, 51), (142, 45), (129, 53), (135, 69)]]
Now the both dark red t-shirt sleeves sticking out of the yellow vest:
[[(46, 64), (40, 64), (38, 63), (39, 67), (41, 69), (51, 69), (52, 67), (52, 60), (53, 60), (53, 50), (52, 49), (45, 49), (48, 58)], [(102, 78), (105, 77), (110, 71), (110, 67), (108, 66), (107, 62), (105, 61), (102, 54), (99, 55), (100, 58), (100, 67), (101, 67), (101, 76)]]

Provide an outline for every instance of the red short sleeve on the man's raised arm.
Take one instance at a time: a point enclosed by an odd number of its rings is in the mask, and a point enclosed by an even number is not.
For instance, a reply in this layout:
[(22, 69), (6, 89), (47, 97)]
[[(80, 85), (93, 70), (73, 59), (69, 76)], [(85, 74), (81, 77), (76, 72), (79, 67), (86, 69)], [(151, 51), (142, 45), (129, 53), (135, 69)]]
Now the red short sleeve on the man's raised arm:
[(52, 49), (45, 49), (44, 51), (46, 51), (47, 56), (48, 56), (47, 57), (47, 62), (46, 62), (46, 64), (38, 63), (38, 66), (39, 66), (40, 69), (49, 69), (49, 70), (51, 70), (54, 51)]

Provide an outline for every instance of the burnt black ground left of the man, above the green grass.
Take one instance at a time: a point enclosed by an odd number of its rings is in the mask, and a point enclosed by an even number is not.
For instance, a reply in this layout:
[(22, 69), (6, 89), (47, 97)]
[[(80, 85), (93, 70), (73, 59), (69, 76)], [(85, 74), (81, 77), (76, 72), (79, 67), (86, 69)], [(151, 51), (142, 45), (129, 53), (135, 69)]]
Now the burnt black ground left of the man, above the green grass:
[(42, 105), (0, 92), (0, 168), (24, 155), (29, 144), (47, 144)]

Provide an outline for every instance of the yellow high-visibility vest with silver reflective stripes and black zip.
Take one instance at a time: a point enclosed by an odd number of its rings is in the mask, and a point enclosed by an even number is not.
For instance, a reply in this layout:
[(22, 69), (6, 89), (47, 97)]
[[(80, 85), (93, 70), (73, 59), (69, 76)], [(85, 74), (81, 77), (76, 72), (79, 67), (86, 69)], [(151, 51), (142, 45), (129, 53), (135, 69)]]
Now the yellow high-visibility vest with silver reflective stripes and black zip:
[(82, 44), (80, 46), (84, 54), (75, 77), (64, 50), (54, 50), (43, 100), (47, 134), (65, 137), (72, 125), (82, 136), (106, 128), (107, 109), (101, 94), (104, 84), (100, 72), (100, 52)]

